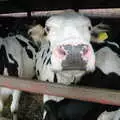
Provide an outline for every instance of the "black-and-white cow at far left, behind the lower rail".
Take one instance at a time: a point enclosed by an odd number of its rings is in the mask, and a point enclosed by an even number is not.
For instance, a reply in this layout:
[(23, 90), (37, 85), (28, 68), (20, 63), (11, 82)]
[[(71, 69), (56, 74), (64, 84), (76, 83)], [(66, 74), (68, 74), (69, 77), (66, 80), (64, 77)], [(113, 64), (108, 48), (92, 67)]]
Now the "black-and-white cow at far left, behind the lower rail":
[[(24, 78), (34, 77), (36, 52), (36, 45), (22, 35), (1, 38), (0, 74)], [(0, 111), (3, 111), (4, 101), (12, 95), (10, 110), (13, 113), (13, 119), (17, 119), (15, 113), (18, 110), (20, 93), (18, 90), (0, 87)]]

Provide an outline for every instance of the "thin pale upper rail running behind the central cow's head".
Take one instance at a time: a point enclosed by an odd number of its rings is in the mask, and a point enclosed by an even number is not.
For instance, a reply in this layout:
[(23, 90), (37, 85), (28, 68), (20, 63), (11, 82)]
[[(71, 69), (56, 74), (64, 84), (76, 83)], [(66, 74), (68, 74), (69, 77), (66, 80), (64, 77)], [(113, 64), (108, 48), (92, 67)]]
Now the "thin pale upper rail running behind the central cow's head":
[[(51, 16), (66, 11), (73, 11), (73, 10), (66, 9), (66, 10), (51, 10), (51, 11), (31, 11), (30, 15), (32, 17)], [(89, 17), (120, 18), (120, 8), (79, 9), (78, 11), (80, 14)], [(27, 12), (0, 14), (0, 17), (27, 17), (27, 16), (28, 16)]]

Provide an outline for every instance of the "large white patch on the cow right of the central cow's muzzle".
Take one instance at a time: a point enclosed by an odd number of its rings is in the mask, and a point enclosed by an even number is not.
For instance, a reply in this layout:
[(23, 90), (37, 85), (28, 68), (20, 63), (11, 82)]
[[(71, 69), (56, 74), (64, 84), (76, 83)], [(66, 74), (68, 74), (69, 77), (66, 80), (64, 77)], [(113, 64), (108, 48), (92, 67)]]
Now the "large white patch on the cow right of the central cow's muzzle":
[(103, 47), (96, 52), (96, 66), (105, 74), (115, 72), (120, 75), (120, 58), (108, 47)]

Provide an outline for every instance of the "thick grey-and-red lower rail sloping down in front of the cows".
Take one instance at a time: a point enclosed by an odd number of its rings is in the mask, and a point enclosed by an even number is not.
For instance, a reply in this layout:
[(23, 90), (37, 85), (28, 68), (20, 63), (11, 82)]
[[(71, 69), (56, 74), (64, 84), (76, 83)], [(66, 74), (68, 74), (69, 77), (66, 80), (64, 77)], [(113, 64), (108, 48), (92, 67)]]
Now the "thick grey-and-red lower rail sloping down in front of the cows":
[(120, 106), (120, 91), (117, 90), (71, 87), (4, 76), (0, 76), (0, 86), (27, 92)]

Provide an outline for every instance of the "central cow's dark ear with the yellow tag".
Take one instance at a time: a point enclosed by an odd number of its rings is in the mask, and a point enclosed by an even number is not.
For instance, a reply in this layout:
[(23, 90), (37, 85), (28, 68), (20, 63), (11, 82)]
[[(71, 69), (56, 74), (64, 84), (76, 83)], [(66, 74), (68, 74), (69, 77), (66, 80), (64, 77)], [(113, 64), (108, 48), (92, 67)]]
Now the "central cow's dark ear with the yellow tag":
[(105, 24), (98, 24), (93, 27), (91, 31), (91, 41), (96, 43), (103, 43), (108, 39), (109, 26)]

